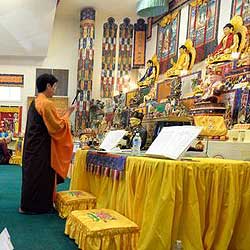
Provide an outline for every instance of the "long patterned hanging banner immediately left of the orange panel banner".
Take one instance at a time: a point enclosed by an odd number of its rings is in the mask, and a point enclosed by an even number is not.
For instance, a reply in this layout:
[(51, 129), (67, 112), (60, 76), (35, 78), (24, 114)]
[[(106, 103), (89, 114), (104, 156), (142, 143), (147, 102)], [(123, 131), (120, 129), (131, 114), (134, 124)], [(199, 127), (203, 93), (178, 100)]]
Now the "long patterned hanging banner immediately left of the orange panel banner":
[(124, 18), (119, 27), (119, 58), (116, 90), (129, 89), (132, 63), (134, 26), (129, 18)]

